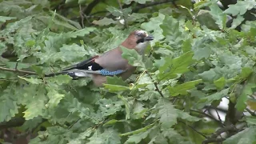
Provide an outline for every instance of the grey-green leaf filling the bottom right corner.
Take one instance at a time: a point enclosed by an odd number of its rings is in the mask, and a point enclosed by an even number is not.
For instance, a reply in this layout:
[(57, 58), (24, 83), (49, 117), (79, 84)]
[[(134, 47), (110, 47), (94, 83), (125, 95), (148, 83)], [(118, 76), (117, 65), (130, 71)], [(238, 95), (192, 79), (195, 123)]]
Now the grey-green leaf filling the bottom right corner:
[[(239, 2), (239, 1), (238, 1)], [(250, 126), (246, 130), (240, 131), (238, 134), (226, 138), (224, 144), (236, 143), (236, 144), (251, 144), (256, 142), (256, 127)]]

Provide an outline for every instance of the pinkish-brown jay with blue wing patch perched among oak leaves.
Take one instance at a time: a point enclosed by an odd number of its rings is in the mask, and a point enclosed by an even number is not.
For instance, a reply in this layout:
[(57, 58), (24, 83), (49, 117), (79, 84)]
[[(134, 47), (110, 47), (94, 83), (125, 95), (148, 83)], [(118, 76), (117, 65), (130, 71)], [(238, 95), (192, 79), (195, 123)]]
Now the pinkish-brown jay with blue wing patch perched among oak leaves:
[[(134, 49), (138, 54), (144, 54), (144, 50), (150, 41), (154, 39), (144, 30), (135, 30), (122, 42), (121, 46), (127, 49)], [(58, 74), (68, 74), (72, 78), (91, 77), (95, 86), (102, 86), (106, 83), (106, 76), (117, 75), (123, 80), (130, 78), (136, 67), (131, 66), (125, 58), (122, 58), (120, 46), (109, 50), (102, 55), (96, 55), (83, 62), (69, 66), (59, 73), (46, 74), (51, 77)]]

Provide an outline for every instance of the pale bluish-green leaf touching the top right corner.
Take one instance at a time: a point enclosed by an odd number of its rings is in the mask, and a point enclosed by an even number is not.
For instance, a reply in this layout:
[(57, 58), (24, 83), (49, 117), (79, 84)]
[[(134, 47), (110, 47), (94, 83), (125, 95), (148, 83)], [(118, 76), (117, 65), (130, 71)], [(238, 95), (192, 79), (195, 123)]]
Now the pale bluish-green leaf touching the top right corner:
[(224, 11), (225, 14), (243, 15), (247, 10), (251, 10), (256, 5), (255, 1), (238, 1), (234, 5), (229, 5), (229, 8)]

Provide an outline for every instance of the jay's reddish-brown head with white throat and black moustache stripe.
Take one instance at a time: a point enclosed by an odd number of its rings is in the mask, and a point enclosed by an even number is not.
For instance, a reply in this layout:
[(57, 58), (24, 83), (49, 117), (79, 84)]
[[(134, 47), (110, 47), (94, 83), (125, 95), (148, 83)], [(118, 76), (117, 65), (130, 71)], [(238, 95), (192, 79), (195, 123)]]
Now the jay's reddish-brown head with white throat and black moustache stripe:
[(139, 54), (142, 54), (150, 41), (154, 40), (154, 37), (147, 34), (145, 30), (135, 30), (130, 33), (129, 37), (122, 46), (126, 46), (129, 49), (135, 49)]

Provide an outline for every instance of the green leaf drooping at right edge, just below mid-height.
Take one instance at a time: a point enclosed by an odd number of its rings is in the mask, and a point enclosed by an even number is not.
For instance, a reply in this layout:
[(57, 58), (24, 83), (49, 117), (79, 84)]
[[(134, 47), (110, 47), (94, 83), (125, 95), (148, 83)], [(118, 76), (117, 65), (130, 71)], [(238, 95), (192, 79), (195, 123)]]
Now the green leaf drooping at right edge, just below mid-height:
[(248, 99), (248, 95), (253, 94), (253, 88), (256, 87), (255, 83), (247, 83), (246, 86), (243, 88), (242, 90), (242, 94), (238, 96), (237, 99), (237, 104), (235, 105), (235, 107), (239, 110), (239, 111), (243, 111), (246, 109), (246, 102)]

